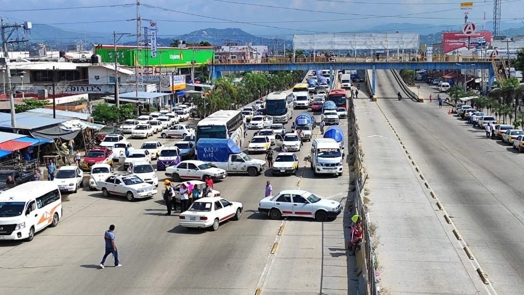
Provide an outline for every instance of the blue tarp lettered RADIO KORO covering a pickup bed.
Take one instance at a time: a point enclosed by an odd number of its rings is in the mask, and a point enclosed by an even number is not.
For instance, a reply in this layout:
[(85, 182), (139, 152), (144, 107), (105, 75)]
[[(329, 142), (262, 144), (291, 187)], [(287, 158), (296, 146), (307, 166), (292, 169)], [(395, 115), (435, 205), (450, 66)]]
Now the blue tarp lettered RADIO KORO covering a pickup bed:
[(198, 160), (204, 162), (226, 162), (230, 154), (242, 153), (231, 139), (201, 138), (196, 145)]

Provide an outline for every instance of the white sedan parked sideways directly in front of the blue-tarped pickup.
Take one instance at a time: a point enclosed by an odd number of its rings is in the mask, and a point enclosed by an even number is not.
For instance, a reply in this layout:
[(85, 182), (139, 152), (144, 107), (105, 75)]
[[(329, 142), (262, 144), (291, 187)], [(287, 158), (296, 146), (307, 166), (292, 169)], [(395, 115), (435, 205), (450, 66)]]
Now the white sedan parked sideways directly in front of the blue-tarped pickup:
[(176, 182), (183, 179), (204, 180), (206, 176), (210, 176), (213, 180), (223, 180), (227, 176), (224, 169), (212, 167), (208, 163), (196, 160), (186, 160), (176, 166), (167, 167), (165, 174)]

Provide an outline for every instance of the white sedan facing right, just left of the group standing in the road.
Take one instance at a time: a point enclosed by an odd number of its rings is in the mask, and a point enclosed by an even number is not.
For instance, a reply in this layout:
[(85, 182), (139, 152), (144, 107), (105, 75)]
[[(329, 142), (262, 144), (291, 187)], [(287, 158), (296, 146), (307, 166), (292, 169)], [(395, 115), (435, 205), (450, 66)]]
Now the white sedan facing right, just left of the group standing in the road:
[(96, 186), (101, 189), (104, 197), (125, 196), (129, 202), (138, 198), (152, 198), (158, 193), (156, 187), (129, 173), (113, 174), (104, 181), (97, 182)]

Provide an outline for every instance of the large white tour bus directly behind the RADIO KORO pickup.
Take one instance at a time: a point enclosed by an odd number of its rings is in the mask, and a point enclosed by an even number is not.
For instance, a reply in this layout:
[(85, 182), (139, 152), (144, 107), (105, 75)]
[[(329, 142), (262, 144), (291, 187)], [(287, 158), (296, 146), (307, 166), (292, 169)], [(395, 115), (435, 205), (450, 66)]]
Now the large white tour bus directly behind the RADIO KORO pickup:
[[(195, 144), (201, 138), (231, 139), (236, 145), (244, 146), (244, 120), (241, 111), (220, 110), (210, 114), (196, 124)], [(196, 150), (195, 147), (195, 154)]]

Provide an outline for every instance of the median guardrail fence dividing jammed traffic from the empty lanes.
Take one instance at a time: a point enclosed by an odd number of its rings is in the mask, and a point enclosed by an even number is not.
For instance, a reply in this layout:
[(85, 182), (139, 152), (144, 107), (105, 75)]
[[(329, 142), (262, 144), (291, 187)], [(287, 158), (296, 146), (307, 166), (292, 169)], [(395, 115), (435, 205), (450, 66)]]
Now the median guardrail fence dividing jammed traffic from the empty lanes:
[(356, 254), (357, 272), (358, 270), (362, 270), (362, 273), (361, 274), (357, 273), (357, 275), (358, 276), (362, 275), (367, 285), (365, 288), (365, 291), (366, 291), (365, 294), (378, 295), (378, 284), (377, 284), (376, 269), (375, 269), (375, 255), (373, 252), (373, 245), (372, 245), (371, 233), (370, 233), (371, 221), (369, 218), (369, 214), (367, 213), (367, 210), (365, 207), (366, 205), (364, 202), (364, 184), (366, 182), (367, 176), (364, 177), (363, 176), (364, 173), (362, 171), (362, 154), (360, 152), (360, 144), (358, 140), (357, 120), (355, 117), (354, 101), (353, 99), (349, 101), (351, 101), (350, 118), (353, 118), (352, 136), (353, 136), (353, 148), (354, 148), (354, 154), (355, 154), (355, 163), (353, 165), (355, 168), (354, 173), (355, 173), (355, 192), (356, 192), (355, 199), (354, 199), (354, 209), (355, 209), (355, 213), (361, 216), (362, 218), (362, 229), (364, 231), (364, 235), (361, 241), (361, 248)]

